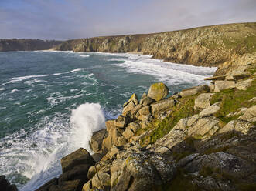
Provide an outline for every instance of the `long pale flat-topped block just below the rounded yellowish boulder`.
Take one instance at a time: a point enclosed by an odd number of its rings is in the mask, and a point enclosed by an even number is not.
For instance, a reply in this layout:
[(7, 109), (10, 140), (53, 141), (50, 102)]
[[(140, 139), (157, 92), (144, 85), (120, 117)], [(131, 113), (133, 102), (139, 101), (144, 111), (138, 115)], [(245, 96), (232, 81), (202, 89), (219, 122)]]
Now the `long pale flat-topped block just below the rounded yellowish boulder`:
[(175, 106), (176, 101), (174, 99), (163, 99), (159, 102), (153, 102), (151, 106), (152, 115), (155, 116), (160, 111), (170, 110)]

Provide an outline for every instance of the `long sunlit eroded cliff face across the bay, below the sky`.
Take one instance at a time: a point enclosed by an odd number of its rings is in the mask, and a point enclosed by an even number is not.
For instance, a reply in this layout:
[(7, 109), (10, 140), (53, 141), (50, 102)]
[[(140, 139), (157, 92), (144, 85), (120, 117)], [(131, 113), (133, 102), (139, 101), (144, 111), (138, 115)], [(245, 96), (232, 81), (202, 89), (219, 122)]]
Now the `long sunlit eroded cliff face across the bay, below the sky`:
[(256, 52), (256, 22), (174, 32), (75, 39), (56, 49), (74, 52), (142, 52), (168, 62), (217, 66)]

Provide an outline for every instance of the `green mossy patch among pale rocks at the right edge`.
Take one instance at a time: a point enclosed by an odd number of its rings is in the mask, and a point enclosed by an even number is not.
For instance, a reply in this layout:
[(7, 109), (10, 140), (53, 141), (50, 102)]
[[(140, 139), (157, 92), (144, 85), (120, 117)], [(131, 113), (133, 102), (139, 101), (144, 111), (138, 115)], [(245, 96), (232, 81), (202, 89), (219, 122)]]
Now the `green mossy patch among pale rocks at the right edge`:
[[(241, 107), (254, 106), (254, 102), (249, 102), (256, 95), (256, 80), (251, 83), (247, 90), (225, 89), (213, 95), (210, 103), (220, 103), (220, 110), (215, 114), (222, 122), (227, 123), (237, 119), (238, 116), (227, 117), (230, 112), (236, 112)], [(235, 104), (234, 104), (235, 103)]]

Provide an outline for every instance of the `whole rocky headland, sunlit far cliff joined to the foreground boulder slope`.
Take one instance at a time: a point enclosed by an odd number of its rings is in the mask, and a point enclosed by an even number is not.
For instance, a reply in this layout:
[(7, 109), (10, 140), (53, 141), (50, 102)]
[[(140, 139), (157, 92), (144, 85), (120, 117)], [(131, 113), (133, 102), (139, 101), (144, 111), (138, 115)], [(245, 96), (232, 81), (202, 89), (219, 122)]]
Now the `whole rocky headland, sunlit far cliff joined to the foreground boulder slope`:
[(167, 97), (162, 82), (136, 94), (94, 132), (90, 155), (63, 157), (63, 173), (38, 191), (256, 189), (256, 23), (150, 35), (77, 39), (56, 49), (142, 52), (156, 59), (217, 66), (210, 85)]

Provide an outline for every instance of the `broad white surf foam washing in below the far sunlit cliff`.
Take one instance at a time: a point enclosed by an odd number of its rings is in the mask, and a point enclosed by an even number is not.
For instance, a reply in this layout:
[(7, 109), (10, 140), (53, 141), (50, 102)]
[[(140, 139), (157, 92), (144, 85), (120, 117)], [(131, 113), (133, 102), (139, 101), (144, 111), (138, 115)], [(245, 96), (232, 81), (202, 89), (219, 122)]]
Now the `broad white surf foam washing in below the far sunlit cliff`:
[[(105, 55), (105, 54), (104, 54)], [(115, 54), (118, 55), (118, 54)], [(121, 57), (108, 59), (118, 61), (116, 65), (125, 68), (131, 73), (153, 75), (156, 79), (168, 85), (180, 83), (201, 84), (206, 76), (212, 75), (217, 68), (198, 67), (194, 65), (174, 64), (151, 59), (149, 55), (121, 54)]]

